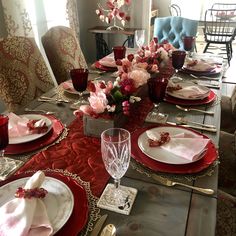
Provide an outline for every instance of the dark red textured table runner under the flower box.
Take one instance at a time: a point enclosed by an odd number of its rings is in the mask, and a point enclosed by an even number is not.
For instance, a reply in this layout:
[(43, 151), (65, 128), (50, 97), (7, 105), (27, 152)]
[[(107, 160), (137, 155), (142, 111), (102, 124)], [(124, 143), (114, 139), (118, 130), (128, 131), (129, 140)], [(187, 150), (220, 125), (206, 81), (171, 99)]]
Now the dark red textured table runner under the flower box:
[[(133, 132), (142, 126), (151, 108), (149, 99), (143, 99), (132, 111), (124, 128)], [(92, 193), (100, 196), (109, 180), (109, 174), (102, 161), (100, 138), (84, 135), (82, 119), (75, 119), (68, 128), (69, 133), (65, 139), (34, 155), (18, 174), (27, 170), (47, 168), (67, 170), (80, 176), (83, 181), (90, 182)]]

